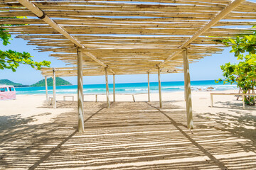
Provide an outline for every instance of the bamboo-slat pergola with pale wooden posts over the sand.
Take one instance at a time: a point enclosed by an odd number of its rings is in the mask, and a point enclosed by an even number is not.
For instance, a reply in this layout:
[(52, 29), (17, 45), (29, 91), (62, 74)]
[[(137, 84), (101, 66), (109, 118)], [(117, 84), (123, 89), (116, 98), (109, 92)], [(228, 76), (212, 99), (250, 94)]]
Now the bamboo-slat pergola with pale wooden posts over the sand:
[(252, 34), (256, 25), (256, 3), (245, 0), (1, 0), (0, 8), (0, 17), (28, 16), (0, 18), (1, 24), (16, 25), (1, 28), (78, 66), (55, 74), (78, 75), (80, 131), (82, 75), (158, 73), (160, 82), (161, 70), (183, 70), (193, 128), (188, 63), (221, 52), (225, 46), (215, 40)]

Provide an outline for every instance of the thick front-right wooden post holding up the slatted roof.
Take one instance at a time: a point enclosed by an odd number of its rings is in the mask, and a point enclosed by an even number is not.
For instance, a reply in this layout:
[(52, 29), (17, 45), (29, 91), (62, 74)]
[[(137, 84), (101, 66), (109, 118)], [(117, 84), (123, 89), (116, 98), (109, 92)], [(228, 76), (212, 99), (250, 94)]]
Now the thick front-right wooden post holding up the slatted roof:
[(183, 68), (184, 68), (184, 80), (186, 90), (186, 115), (187, 115), (187, 127), (193, 129), (193, 113), (192, 113), (192, 99), (191, 99), (191, 80), (188, 67), (188, 50), (185, 48), (183, 51)]

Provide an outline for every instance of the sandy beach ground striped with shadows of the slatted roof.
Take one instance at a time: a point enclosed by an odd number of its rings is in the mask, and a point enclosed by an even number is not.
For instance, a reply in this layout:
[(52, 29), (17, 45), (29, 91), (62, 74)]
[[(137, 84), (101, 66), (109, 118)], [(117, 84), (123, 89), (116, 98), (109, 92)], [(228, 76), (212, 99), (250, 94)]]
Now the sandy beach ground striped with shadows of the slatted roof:
[(212, 92), (192, 92), (194, 130), (183, 92), (163, 93), (160, 109), (158, 94), (117, 95), (108, 109), (105, 96), (86, 95), (84, 133), (63, 95), (55, 110), (44, 95), (0, 101), (0, 169), (256, 169), (256, 108), (234, 96), (210, 108)]

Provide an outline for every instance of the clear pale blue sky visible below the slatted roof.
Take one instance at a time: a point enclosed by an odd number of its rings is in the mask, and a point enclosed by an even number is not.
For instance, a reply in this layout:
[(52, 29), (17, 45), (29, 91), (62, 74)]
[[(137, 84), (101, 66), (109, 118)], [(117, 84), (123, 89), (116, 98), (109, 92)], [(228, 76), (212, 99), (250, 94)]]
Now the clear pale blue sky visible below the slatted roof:
[[(52, 62), (51, 67), (65, 67), (65, 63), (60, 60), (55, 60), (54, 57), (48, 57), (50, 52), (38, 52), (36, 46), (26, 45), (27, 41), (13, 38), (11, 44), (4, 46), (0, 45), (1, 50), (16, 50), (17, 52), (30, 52), (33, 55), (33, 60), (40, 62), (42, 60), (48, 60)], [(229, 52), (230, 48), (225, 48), (222, 54), (215, 54), (205, 57), (199, 62), (190, 64), (191, 80), (212, 80), (221, 77), (222, 72), (220, 65), (226, 62), (237, 63), (238, 60)], [(62, 77), (70, 81), (71, 84), (77, 84), (77, 77)], [(12, 72), (9, 69), (0, 70), (0, 79), (9, 79), (21, 84), (31, 85), (43, 79), (40, 71), (31, 68), (27, 65), (20, 65), (16, 72)], [(84, 77), (84, 84), (104, 84), (105, 77)], [(109, 81), (112, 83), (112, 76), (109, 76)], [(146, 74), (137, 75), (117, 75), (115, 77), (116, 83), (135, 83), (146, 82)], [(158, 81), (157, 74), (151, 74), (150, 81)], [(161, 81), (183, 81), (183, 73), (161, 74)]]

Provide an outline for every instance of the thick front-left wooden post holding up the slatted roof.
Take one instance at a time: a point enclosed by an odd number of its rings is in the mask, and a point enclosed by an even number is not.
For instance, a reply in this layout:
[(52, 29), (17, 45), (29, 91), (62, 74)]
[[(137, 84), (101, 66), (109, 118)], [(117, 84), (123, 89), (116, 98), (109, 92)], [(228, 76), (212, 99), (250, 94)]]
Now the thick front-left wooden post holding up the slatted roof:
[(82, 52), (80, 49), (78, 53), (78, 132), (84, 132), (84, 119), (83, 119), (83, 86), (82, 86)]

